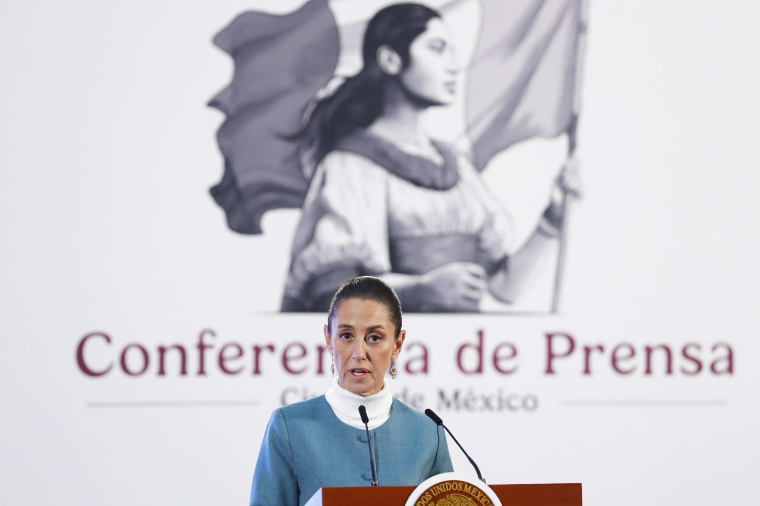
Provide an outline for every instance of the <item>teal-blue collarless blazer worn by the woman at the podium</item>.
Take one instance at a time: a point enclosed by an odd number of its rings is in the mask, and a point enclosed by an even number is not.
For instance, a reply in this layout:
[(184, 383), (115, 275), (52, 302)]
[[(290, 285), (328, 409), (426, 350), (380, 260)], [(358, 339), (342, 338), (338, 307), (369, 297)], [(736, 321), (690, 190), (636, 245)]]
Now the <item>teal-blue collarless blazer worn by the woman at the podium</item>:
[[(380, 486), (417, 486), (453, 470), (445, 432), (393, 400), (391, 417), (369, 431)], [(251, 506), (302, 506), (321, 487), (369, 486), (364, 429), (337, 419), (325, 396), (272, 413), (251, 487)]]

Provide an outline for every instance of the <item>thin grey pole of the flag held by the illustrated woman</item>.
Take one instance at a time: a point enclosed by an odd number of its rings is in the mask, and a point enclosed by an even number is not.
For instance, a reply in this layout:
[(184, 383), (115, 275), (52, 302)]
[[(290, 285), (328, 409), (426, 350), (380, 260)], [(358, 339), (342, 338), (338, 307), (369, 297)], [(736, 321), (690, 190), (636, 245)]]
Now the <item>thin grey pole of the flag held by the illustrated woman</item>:
[[(588, 19), (588, 0), (581, 0), (578, 13), (578, 39), (576, 42), (576, 57), (575, 57), (575, 83), (573, 90), (572, 100), (572, 116), (570, 118), (567, 130), (568, 134), (568, 158), (575, 155), (575, 147), (577, 146), (577, 133), (578, 133), (578, 115), (581, 111), (581, 74), (583, 68), (583, 59), (586, 49), (586, 30)], [(554, 293), (552, 295), (552, 313), (559, 312), (559, 294), (562, 292), (562, 273), (565, 268), (565, 244), (567, 244), (567, 216), (569, 209), (569, 201), (571, 196), (567, 192), (562, 191), (562, 200), (560, 201), (560, 207), (562, 209), (561, 218), (559, 222), (559, 248), (557, 250), (557, 263), (554, 272)]]

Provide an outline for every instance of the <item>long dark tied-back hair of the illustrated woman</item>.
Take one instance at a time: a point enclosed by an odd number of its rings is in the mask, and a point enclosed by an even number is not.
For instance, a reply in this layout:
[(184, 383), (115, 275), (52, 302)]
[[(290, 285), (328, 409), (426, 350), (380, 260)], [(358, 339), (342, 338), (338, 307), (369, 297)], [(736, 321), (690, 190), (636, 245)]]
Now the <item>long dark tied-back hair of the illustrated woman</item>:
[(389, 5), (369, 20), (362, 48), (363, 68), (347, 78), (335, 92), (321, 99), (302, 132), (303, 149), (317, 165), (341, 139), (366, 128), (383, 112), (383, 90), (395, 79), (378, 66), (377, 52), (388, 46), (401, 57), (402, 68), (410, 62), (409, 46), (427, 23), (441, 15), (425, 5)]

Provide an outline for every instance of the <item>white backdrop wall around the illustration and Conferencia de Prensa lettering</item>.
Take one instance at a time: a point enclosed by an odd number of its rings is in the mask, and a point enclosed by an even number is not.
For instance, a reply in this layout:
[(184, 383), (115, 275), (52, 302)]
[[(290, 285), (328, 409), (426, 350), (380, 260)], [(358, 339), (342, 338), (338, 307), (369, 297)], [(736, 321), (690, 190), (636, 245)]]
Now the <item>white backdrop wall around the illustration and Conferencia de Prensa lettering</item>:
[[(324, 317), (275, 311), (298, 212), (272, 212), (263, 236), (243, 237), (207, 193), (222, 170), (222, 116), (204, 103), (232, 71), (211, 36), (259, 6), (0, 8), (2, 504), (246, 504), (283, 392), (328, 387), (314, 348)], [(402, 371), (394, 391), (437, 410), (489, 482), (583, 482), (585, 504), (760, 501), (758, 15), (750, 2), (592, 2), (579, 131), (586, 196), (572, 209), (562, 313), (405, 318), (407, 344), (428, 347), (429, 369)], [(545, 192), (562, 149), (515, 146), (505, 170), (486, 177), (505, 202), (538, 206), (530, 195)], [(551, 170), (528, 178), (526, 163)], [(550, 271), (515, 310), (548, 306)], [(204, 329), (217, 337), (207, 335), (214, 347), (199, 376)], [(483, 374), (466, 375), (457, 349), (479, 330)], [(90, 366), (113, 363), (97, 378), (76, 356), (90, 332), (112, 339), (88, 341)], [(546, 332), (576, 344), (553, 375)], [(505, 341), (518, 350), (502, 362), (518, 366), (510, 375), (492, 365)], [(119, 365), (133, 342), (150, 356), (135, 377)], [(239, 374), (218, 363), (230, 342), (242, 345), (242, 359), (227, 363)], [(283, 368), (290, 343), (307, 347), (288, 363), (302, 374)], [(629, 375), (610, 359), (622, 343), (635, 350)], [(695, 375), (682, 372), (695, 370), (682, 356), (689, 343), (701, 347), (687, 350), (703, 362)], [(715, 358), (726, 369), (717, 343), (733, 352), (731, 374), (710, 370)], [(157, 347), (171, 344), (188, 351), (186, 376), (170, 351), (158, 374)], [(252, 347), (266, 344), (274, 353), (262, 352), (254, 374)], [(657, 344), (673, 350), (670, 375), (661, 351), (645, 373), (644, 347)], [(604, 347), (591, 351), (590, 374), (584, 345)], [(139, 351), (128, 357), (139, 369)], [(459, 409), (440, 397), (455, 391)], [(483, 395), (527, 398), (530, 409), (480, 410)], [(454, 449), (456, 470), (470, 472)]]

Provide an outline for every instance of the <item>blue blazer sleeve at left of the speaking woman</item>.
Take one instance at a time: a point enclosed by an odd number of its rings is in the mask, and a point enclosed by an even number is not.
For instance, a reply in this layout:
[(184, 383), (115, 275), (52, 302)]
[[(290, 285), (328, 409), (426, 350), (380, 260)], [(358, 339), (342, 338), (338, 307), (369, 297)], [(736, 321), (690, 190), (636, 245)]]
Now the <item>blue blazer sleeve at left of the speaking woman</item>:
[(258, 452), (250, 506), (298, 506), (299, 488), (287, 424), (281, 410), (272, 413)]

